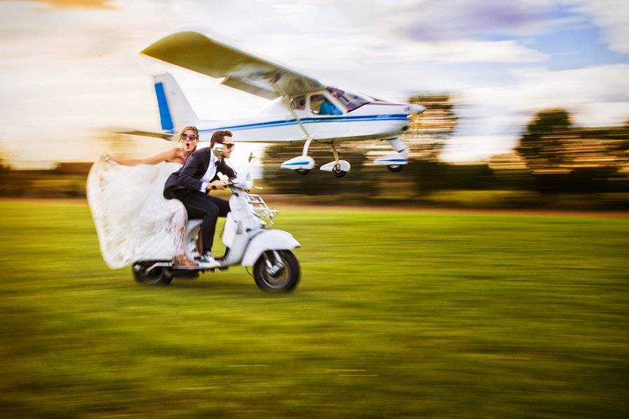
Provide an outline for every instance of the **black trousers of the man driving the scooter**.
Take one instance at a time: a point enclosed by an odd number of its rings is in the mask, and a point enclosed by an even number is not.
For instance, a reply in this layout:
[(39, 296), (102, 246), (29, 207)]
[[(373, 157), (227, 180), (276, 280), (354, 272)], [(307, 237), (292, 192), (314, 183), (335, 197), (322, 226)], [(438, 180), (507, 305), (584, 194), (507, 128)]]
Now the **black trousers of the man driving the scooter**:
[(219, 216), (227, 216), (229, 202), (215, 196), (206, 196), (185, 189), (175, 191), (175, 195), (186, 207), (188, 219), (203, 219), (203, 226), (201, 227), (203, 253), (211, 251), (216, 221)]

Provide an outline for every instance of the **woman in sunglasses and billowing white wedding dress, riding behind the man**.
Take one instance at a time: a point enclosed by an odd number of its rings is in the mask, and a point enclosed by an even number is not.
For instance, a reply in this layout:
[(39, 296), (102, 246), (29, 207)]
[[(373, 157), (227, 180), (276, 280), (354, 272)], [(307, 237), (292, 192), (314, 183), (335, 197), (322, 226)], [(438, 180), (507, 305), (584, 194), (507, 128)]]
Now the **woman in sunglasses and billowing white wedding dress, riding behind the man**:
[(103, 154), (89, 170), (87, 202), (110, 268), (136, 260), (196, 265), (184, 251), (186, 209), (179, 200), (166, 200), (163, 191), (166, 178), (181, 168), (197, 144), (198, 129), (187, 126), (176, 148), (139, 160)]

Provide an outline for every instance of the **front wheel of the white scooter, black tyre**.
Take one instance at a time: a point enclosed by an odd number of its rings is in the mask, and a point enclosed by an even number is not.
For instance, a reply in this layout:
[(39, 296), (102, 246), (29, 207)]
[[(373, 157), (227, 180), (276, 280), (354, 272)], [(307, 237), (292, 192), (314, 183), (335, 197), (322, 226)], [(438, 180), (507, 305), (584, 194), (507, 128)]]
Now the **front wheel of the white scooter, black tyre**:
[(254, 265), (254, 281), (267, 293), (289, 293), (300, 277), (299, 262), (289, 250), (267, 250)]

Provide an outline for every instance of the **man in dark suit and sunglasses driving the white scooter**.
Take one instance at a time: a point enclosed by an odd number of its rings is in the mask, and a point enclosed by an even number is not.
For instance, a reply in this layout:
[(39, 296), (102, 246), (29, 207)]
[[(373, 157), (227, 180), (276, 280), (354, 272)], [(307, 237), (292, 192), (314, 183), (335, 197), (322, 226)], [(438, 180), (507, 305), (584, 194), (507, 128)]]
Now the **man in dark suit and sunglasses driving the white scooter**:
[[(215, 156), (212, 148), (222, 144), (222, 157)], [(192, 153), (184, 166), (166, 179), (164, 184), (164, 198), (180, 200), (186, 207), (188, 219), (203, 219), (201, 241), (203, 254), (198, 260), (201, 267), (217, 267), (219, 263), (212, 256), (212, 242), (219, 216), (227, 216), (229, 202), (210, 196), (208, 191), (225, 189), (225, 184), (218, 178), (222, 173), (233, 179), (236, 172), (227, 166), (224, 159), (231, 156), (234, 143), (230, 131), (216, 131), (212, 134), (210, 147), (196, 150)]]

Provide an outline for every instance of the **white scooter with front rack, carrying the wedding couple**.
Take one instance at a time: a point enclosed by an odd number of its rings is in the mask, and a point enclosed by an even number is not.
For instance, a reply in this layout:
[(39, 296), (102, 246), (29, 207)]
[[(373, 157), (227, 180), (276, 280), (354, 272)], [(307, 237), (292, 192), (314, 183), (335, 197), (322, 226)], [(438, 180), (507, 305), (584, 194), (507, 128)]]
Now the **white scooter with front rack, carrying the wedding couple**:
[[(215, 154), (220, 156), (222, 148), (217, 145)], [(250, 162), (253, 156), (250, 156)], [(251, 168), (251, 165), (250, 165)], [(300, 278), (299, 262), (291, 249), (301, 244), (283, 230), (273, 230), (273, 217), (277, 211), (270, 210), (264, 200), (249, 191), (253, 186), (250, 170), (243, 177), (227, 182), (232, 195), (229, 199), (231, 212), (227, 214), (222, 242), (226, 251), (222, 258), (217, 258), (219, 270), (226, 270), (232, 265), (253, 266), (253, 277), (262, 291), (289, 292), (298, 284)], [(198, 233), (201, 219), (190, 219), (186, 224), (185, 248), (190, 260), (198, 258)], [(168, 285), (174, 277), (196, 278), (199, 272), (215, 268), (174, 265), (173, 261), (140, 260), (133, 263), (133, 277), (143, 284)]]

